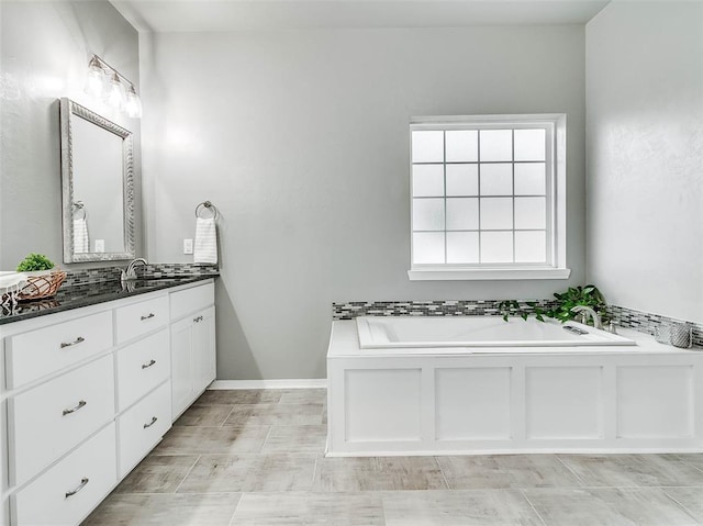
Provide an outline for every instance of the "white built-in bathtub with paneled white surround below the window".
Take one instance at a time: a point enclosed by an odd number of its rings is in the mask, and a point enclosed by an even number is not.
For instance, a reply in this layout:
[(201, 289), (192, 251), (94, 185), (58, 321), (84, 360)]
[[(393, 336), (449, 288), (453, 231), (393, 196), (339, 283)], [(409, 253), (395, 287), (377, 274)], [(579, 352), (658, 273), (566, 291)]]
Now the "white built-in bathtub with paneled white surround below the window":
[(333, 322), (327, 455), (703, 451), (703, 352), (568, 325)]

